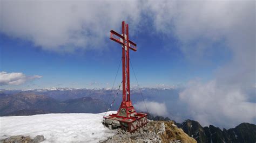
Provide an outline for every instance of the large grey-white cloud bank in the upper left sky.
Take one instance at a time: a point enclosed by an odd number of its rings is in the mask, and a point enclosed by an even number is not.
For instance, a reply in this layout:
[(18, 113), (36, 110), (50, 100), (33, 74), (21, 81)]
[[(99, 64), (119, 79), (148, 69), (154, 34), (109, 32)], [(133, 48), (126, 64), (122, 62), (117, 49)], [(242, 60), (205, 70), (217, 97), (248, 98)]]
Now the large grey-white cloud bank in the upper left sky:
[(0, 31), (43, 49), (99, 49), (122, 20), (138, 24), (136, 1), (1, 1)]

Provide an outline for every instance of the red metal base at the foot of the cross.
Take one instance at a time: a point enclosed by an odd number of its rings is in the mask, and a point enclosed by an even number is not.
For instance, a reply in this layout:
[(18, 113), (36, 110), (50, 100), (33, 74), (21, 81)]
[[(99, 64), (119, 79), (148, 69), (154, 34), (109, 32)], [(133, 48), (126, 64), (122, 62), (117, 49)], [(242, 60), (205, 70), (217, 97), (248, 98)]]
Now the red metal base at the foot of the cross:
[(123, 102), (116, 114), (112, 114), (104, 118), (118, 120), (125, 131), (133, 132), (139, 127), (147, 124), (147, 114), (137, 113), (133, 106), (127, 105), (131, 105), (131, 102)]

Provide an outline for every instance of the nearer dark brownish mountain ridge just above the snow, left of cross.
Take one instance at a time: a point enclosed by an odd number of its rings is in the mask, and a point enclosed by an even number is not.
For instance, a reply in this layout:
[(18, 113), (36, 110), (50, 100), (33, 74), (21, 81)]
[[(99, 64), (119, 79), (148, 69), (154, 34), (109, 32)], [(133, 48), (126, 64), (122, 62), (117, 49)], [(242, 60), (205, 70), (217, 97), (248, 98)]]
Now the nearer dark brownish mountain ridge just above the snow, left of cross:
[(0, 95), (0, 116), (22, 116), (44, 113), (98, 113), (106, 103), (91, 97), (58, 101), (45, 95), (19, 93)]

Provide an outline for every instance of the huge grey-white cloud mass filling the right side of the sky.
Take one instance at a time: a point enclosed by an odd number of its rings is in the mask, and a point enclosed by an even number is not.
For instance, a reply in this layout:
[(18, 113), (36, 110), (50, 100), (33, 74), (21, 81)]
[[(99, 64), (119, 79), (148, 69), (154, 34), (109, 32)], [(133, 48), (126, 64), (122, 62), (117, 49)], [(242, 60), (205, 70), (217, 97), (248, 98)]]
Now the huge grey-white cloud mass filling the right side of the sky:
[(201, 60), (198, 62), (209, 59), (218, 42), (232, 52), (232, 59), (215, 70), (211, 81), (192, 81), (180, 93), (181, 101), (189, 106), (188, 114), (203, 125), (234, 127), (245, 121), (255, 123), (256, 103), (250, 99), (256, 95), (248, 94), (255, 91), (256, 81), (254, 4), (254, 1), (179, 2), (178, 10), (174, 10), (177, 15), (167, 22), (157, 22), (162, 33), (170, 32), (166, 25), (172, 22), (171, 30), (189, 59)]

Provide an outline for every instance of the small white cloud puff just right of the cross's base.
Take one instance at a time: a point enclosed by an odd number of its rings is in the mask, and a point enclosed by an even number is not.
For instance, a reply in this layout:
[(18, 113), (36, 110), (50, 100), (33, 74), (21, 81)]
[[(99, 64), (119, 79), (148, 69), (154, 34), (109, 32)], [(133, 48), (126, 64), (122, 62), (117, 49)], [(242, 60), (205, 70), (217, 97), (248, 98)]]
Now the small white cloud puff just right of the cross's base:
[[(146, 104), (146, 106), (145, 106)], [(169, 113), (167, 111), (165, 103), (158, 103), (153, 101), (145, 101), (144, 102), (137, 102), (134, 104), (134, 108), (139, 111), (147, 112), (149, 110), (149, 113), (156, 115), (156, 116), (168, 116)]]

